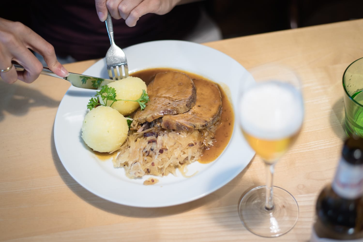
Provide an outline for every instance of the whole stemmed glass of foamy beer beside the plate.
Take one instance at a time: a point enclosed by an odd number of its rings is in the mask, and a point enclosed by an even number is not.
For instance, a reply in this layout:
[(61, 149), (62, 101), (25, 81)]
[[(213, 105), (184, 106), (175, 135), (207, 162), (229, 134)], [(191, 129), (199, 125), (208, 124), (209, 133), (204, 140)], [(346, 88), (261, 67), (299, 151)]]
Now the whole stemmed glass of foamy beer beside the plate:
[(295, 198), (273, 186), (274, 166), (301, 129), (304, 110), (300, 81), (290, 69), (265, 65), (250, 70), (239, 90), (241, 131), (266, 168), (266, 185), (248, 191), (238, 205), (243, 225), (256, 235), (277, 237), (298, 218)]

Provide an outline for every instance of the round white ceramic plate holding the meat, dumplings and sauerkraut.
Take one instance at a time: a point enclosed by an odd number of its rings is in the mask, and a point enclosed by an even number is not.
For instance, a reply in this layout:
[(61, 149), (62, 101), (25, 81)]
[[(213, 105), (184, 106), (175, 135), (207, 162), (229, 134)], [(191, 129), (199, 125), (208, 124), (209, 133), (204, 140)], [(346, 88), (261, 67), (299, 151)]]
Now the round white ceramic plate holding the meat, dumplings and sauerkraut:
[[(137, 44), (124, 51), (129, 72), (170, 67), (218, 82), (231, 97), (236, 113), (238, 86), (249, 73), (224, 53), (200, 44), (171, 40)], [(108, 78), (105, 59), (96, 62), (83, 74)], [(154, 185), (145, 186), (143, 181), (148, 176), (129, 179), (124, 169), (115, 169), (111, 160), (98, 160), (84, 144), (82, 121), (87, 113), (86, 105), (95, 92), (74, 86), (69, 88), (54, 122), (54, 141), (58, 156), (69, 174), (87, 190), (109, 201), (136, 207), (163, 207), (193, 201), (231, 181), (254, 155), (237, 128), (236, 118), (231, 141), (217, 160), (209, 164), (194, 162), (189, 165), (188, 174), (198, 171), (190, 178), (170, 174), (157, 177), (159, 182)]]

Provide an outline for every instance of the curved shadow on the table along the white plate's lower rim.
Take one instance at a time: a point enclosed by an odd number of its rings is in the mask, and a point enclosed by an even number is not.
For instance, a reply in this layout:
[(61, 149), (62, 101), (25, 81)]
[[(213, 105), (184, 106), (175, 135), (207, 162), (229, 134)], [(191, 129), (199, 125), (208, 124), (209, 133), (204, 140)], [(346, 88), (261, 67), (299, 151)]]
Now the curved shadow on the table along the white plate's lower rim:
[[(192, 202), (183, 203), (181, 205), (168, 206), (168, 207), (157, 207), (157, 208), (144, 208), (144, 207), (131, 207), (126, 205), (121, 205), (118, 203), (110, 202), (106, 199), (98, 197), (97, 195), (91, 193), (86, 190), (83, 186), (81, 186), (76, 180), (73, 179), (72, 176), (67, 172), (64, 168), (60, 158), (57, 154), (56, 146), (54, 143), (54, 125), (51, 136), (51, 144), (52, 144), (52, 157), (54, 165), (57, 168), (58, 173), (60, 174), (64, 183), (80, 198), (82, 198), (85, 202), (90, 203), (91, 205), (98, 207), (104, 211), (109, 213), (114, 213), (127, 217), (141, 217), (141, 218), (153, 218), (153, 217), (162, 217), (172, 214), (184, 213), (185, 211), (193, 210), (197, 207), (206, 205), (208, 203), (215, 202), (223, 197), (225, 197), (229, 191), (232, 190), (233, 186), (224, 186), (223, 189), (219, 189), (214, 193), (211, 193), (203, 198), (197, 199)], [(248, 165), (249, 166), (249, 165)], [(242, 171), (244, 174), (248, 166)], [(237, 177), (240, 177), (242, 174), (239, 174)], [(215, 193), (218, 192), (218, 195)]]

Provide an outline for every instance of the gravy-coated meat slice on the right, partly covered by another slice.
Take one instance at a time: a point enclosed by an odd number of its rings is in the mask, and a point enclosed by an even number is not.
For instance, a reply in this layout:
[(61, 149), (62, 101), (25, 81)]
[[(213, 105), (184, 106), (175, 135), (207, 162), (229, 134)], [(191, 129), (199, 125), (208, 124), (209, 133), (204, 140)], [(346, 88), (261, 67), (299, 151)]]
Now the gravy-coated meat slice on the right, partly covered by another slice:
[(222, 111), (221, 93), (210, 81), (194, 80), (197, 93), (195, 105), (186, 113), (166, 115), (161, 126), (172, 130), (204, 129), (219, 120)]

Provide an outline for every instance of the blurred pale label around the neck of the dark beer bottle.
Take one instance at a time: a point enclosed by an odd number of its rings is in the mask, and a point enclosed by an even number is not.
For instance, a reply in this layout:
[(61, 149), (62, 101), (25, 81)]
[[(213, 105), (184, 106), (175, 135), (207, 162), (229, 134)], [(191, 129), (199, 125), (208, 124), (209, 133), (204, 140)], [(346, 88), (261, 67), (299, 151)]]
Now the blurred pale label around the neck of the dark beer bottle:
[(340, 160), (331, 187), (340, 197), (355, 199), (363, 195), (363, 165)]

